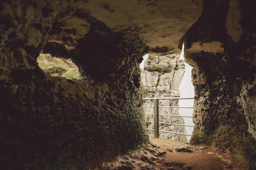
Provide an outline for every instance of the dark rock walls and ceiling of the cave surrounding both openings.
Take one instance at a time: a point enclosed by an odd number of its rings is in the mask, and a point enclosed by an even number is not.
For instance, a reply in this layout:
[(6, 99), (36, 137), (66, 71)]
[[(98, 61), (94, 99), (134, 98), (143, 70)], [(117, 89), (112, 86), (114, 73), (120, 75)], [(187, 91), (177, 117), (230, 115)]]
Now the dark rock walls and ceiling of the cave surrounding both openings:
[[(0, 166), (80, 170), (150, 144), (139, 64), (180, 53), (193, 66), (191, 145), (256, 168), (256, 1), (2, 0)], [(47, 75), (40, 53), (83, 78)]]

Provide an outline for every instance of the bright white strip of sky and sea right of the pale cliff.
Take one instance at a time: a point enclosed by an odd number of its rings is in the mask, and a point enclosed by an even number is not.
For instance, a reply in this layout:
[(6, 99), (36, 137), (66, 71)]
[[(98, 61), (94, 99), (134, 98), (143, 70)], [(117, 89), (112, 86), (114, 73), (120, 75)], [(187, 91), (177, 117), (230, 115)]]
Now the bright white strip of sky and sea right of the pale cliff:
[[(180, 54), (180, 60), (184, 60), (184, 44), (182, 45), (182, 52)], [(182, 77), (180, 82), (179, 91), (181, 98), (189, 98), (194, 97), (194, 86), (191, 81), (191, 70), (192, 66), (184, 62), (185, 64), (185, 73)], [(193, 107), (194, 107), (194, 100), (193, 99), (186, 99), (186, 100), (179, 100), (180, 107), (192, 107), (192, 108), (180, 108), (180, 115), (184, 116), (193, 116)], [(194, 126), (193, 120), (191, 117), (183, 117), (185, 124)], [(185, 126), (186, 133), (192, 134), (193, 127)], [(188, 141), (190, 140), (191, 136), (187, 136)]]

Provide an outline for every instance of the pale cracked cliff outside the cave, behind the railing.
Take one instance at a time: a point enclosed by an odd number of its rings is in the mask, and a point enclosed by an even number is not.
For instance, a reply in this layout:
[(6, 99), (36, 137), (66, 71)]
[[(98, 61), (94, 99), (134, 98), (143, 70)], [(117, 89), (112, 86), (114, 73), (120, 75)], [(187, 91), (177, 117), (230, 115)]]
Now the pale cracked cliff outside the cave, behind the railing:
[[(141, 71), (141, 83), (144, 86), (146, 97), (180, 97), (178, 90), (184, 75), (184, 60), (179, 60), (180, 53), (171, 55), (149, 55), (144, 62), (144, 69)], [(144, 106), (153, 106), (153, 100), (146, 100)], [(172, 124), (184, 124), (182, 117), (162, 116), (179, 115), (178, 108), (161, 108), (161, 106), (179, 106), (178, 100), (159, 100), (159, 121)], [(145, 113), (153, 114), (154, 108), (145, 107)], [(147, 121), (154, 121), (153, 115), (146, 115)], [(147, 128), (153, 129), (154, 123), (147, 122)], [(160, 124), (159, 130), (186, 133), (185, 126)], [(154, 132), (149, 130), (149, 135)], [(168, 132), (159, 132), (159, 137), (187, 142), (187, 137)]]

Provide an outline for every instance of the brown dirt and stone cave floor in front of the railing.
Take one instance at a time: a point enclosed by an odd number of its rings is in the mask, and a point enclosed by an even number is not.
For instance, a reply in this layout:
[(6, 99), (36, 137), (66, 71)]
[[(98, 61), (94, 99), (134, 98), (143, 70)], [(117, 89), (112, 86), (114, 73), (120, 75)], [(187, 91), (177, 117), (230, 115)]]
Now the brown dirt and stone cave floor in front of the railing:
[(214, 148), (152, 145), (103, 163), (97, 170), (249, 170), (249, 166)]

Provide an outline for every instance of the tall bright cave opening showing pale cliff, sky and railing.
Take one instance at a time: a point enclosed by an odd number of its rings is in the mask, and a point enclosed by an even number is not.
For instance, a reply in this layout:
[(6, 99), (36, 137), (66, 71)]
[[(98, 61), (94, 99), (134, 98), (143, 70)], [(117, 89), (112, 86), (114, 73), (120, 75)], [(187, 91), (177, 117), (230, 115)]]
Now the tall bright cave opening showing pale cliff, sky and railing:
[(139, 67), (149, 135), (189, 142), (194, 126), (194, 87), (192, 67), (184, 62), (184, 46), (181, 53), (152, 53), (144, 55), (143, 59)]

